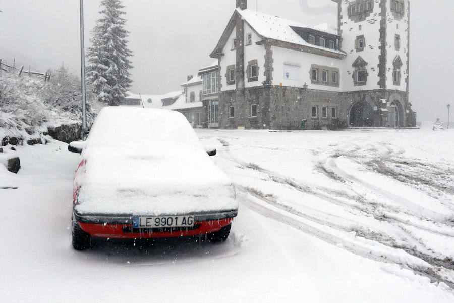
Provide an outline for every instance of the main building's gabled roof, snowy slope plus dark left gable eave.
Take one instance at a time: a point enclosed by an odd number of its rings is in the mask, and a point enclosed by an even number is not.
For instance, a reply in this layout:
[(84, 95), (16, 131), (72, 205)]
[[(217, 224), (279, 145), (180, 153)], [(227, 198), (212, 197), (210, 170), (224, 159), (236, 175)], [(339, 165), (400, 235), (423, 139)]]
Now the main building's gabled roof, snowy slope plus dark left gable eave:
[(309, 26), (300, 22), (291, 21), (284, 18), (255, 12), (252, 10), (236, 9), (210, 57), (216, 58), (217, 56), (221, 55), (222, 49), (224, 48), (227, 40), (229, 39), (232, 31), (235, 28), (237, 18), (242, 18), (263, 40), (285, 42), (294, 46), (317, 48), (326, 52), (345, 55), (345, 53), (341, 51), (310, 44), (292, 29), (292, 27), (311, 29), (324, 33), (327, 36), (337, 36), (337, 30), (327, 24)]

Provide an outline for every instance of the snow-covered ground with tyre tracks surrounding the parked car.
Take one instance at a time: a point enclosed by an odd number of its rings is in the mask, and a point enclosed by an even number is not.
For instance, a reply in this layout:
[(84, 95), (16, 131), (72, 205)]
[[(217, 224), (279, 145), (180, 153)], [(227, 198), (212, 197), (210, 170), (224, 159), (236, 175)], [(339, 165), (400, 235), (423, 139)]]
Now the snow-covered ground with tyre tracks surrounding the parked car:
[(67, 145), (0, 167), (0, 301), (452, 302), (454, 131), (197, 132), (237, 186), (223, 244), (71, 247)]

